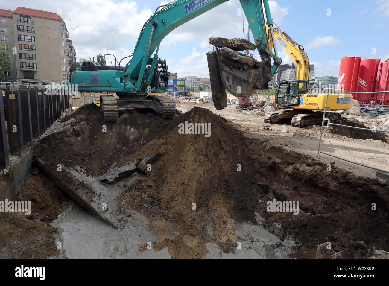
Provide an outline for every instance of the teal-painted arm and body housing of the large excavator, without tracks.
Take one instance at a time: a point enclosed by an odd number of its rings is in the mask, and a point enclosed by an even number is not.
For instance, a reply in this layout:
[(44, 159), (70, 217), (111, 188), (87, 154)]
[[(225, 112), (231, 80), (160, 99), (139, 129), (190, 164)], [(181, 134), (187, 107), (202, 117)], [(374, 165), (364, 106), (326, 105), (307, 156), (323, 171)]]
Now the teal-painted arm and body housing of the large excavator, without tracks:
[[(228, 0), (175, 0), (157, 8), (142, 27), (137, 44), (124, 70), (96, 70), (72, 73), (72, 83), (78, 84), (79, 91), (148, 93), (164, 92), (167, 86), (151, 86), (158, 72), (158, 50), (161, 41), (178, 26), (227, 2)], [(268, 0), (240, 0), (249, 22), (255, 44), (263, 64), (270, 70), (261, 85), (273, 78), (281, 59), (268, 49), (264, 12), (268, 25), (272, 25)], [(263, 7), (264, 10), (263, 11)], [(161, 8), (160, 10), (158, 10)], [(220, 23), (223, 25), (223, 23)], [(152, 54), (156, 51), (154, 56)], [(273, 58), (273, 64), (270, 61)], [(122, 59), (123, 60), (123, 59)], [(120, 63), (119, 63), (120, 65)], [(165, 64), (166, 65), (166, 64)], [(239, 95), (237, 95), (239, 96)]]

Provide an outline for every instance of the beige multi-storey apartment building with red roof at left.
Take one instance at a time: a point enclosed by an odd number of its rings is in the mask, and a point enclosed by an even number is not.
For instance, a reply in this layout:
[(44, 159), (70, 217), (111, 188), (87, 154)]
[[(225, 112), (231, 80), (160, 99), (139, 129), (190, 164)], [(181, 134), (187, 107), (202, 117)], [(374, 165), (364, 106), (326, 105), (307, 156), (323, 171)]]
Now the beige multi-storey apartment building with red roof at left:
[(0, 9), (0, 45), (10, 58), (6, 81), (66, 83), (76, 60), (68, 38), (65, 22), (56, 13), (24, 7)]

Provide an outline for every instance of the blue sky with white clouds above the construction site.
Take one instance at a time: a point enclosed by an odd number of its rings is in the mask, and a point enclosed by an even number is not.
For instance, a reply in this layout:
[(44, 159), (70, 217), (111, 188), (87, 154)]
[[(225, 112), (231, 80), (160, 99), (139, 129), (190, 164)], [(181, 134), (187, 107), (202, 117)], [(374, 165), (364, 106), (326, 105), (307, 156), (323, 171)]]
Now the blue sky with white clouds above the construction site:
[[(315, 76), (337, 77), (343, 56), (389, 58), (389, 0), (269, 2), (274, 22), (305, 48), (310, 63), (315, 64)], [(152, 12), (166, 3), (161, 0), (2, 0), (0, 8), (14, 10), (20, 6), (58, 12), (65, 21), (77, 58), (108, 53), (123, 58), (132, 53), (140, 30)], [(166, 59), (168, 71), (177, 72), (178, 77), (209, 77), (206, 60), (209, 37), (247, 37), (247, 20), (239, 9), (239, 0), (229, 0), (168, 34), (158, 53), (159, 58)], [(252, 37), (251, 42), (254, 42)], [(278, 44), (277, 50), (283, 63), (292, 63)], [(258, 51), (254, 56), (259, 58)]]

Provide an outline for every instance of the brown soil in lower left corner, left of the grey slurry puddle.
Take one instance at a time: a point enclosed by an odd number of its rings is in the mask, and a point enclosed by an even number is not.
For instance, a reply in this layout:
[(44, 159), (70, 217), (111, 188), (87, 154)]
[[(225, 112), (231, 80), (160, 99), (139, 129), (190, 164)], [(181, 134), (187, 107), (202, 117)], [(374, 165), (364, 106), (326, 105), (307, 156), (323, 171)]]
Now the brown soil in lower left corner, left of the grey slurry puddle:
[(45, 175), (30, 175), (15, 201), (31, 201), (31, 214), (3, 212), (0, 216), (0, 258), (46, 259), (59, 256), (50, 224), (70, 200)]

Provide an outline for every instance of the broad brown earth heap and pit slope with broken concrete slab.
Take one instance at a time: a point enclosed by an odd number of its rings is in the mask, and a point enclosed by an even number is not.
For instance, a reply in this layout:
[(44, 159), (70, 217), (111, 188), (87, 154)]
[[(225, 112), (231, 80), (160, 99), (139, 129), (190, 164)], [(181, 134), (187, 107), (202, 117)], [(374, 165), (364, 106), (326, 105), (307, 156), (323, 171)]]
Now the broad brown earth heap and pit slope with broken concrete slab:
[[(207, 109), (194, 107), (170, 120), (126, 110), (106, 123), (90, 104), (66, 119), (35, 146), (35, 163), (119, 230), (146, 219), (154, 251), (168, 247), (172, 258), (209, 258), (215, 247), (238, 255), (242, 242), (261, 257), (313, 259), (316, 246), (327, 241), (342, 258), (363, 258), (367, 249), (359, 241), (389, 250), (387, 183), (334, 163), (327, 172), (318, 160), (245, 136)], [(210, 123), (210, 136), (180, 134), (186, 121)], [(274, 198), (298, 201), (299, 213), (266, 211)], [(372, 203), (379, 205), (374, 211)], [(278, 240), (259, 243), (259, 226)]]

